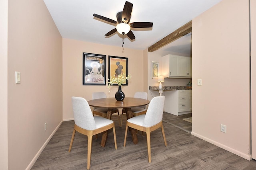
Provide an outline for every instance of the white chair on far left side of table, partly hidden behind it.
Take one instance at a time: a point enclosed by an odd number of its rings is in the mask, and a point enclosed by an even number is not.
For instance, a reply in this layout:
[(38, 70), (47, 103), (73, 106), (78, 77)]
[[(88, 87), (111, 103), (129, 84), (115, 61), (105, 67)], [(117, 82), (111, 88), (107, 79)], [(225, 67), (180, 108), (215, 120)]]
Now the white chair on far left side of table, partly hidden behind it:
[[(107, 98), (107, 95), (104, 92), (94, 92), (94, 93), (92, 93), (92, 100), (101, 99), (101, 98)], [(99, 116), (102, 116), (102, 117), (106, 117), (107, 112), (108, 112), (108, 108), (94, 107), (94, 110), (92, 111), (92, 114), (93, 115), (99, 115)], [(113, 113), (118, 114), (118, 123), (119, 123), (119, 126), (121, 127), (121, 125), (120, 125), (121, 122), (120, 122), (118, 109), (112, 109), (111, 115)]]

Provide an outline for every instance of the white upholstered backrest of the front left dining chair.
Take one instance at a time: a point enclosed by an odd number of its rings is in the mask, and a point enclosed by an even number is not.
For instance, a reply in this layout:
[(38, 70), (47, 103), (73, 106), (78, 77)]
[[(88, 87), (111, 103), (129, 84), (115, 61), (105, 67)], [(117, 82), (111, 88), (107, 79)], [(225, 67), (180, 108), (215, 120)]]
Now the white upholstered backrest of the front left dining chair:
[(84, 98), (72, 97), (72, 106), (75, 123), (77, 126), (86, 129), (96, 129), (96, 123), (92, 115), (92, 110)]

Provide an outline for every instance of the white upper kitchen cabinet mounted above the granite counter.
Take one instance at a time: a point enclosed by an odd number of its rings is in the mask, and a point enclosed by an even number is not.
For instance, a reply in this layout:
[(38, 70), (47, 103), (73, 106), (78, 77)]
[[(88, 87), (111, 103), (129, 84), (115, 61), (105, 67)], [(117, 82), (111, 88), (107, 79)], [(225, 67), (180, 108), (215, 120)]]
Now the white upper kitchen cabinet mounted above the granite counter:
[(169, 54), (162, 57), (161, 65), (165, 78), (192, 78), (191, 57)]

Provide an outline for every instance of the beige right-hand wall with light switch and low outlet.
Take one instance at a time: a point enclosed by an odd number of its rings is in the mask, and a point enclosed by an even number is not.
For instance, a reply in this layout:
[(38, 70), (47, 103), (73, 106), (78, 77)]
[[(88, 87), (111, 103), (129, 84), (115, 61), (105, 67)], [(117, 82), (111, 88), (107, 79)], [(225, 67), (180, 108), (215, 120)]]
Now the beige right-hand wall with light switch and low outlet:
[(248, 0), (223, 0), (192, 20), (192, 134), (249, 160), (248, 7)]

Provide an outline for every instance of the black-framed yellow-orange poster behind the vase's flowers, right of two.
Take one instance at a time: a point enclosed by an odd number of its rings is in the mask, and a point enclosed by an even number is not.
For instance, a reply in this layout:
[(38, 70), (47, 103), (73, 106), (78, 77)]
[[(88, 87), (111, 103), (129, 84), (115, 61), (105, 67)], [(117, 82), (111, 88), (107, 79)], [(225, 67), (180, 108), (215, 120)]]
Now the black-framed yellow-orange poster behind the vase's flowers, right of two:
[[(128, 58), (125, 57), (115, 57), (115, 56), (108, 56), (108, 79), (110, 81), (111, 77), (115, 78), (118, 75), (126, 74), (128, 76)], [(113, 85), (118, 85), (113, 84)], [(123, 85), (128, 85), (128, 80), (124, 82)]]

